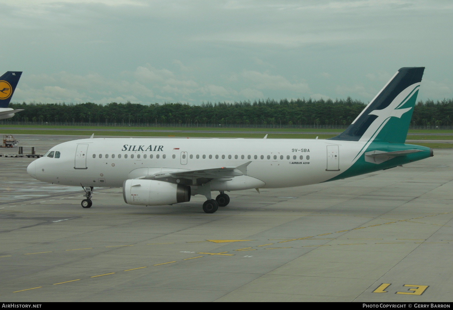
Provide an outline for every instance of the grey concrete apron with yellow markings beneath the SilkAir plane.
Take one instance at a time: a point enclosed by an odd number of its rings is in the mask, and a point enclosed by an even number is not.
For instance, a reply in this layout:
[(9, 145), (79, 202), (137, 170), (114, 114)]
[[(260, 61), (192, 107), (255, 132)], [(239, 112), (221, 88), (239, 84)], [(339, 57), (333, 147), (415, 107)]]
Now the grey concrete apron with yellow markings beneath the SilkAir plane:
[[(76, 136), (15, 135), (45, 153)], [(80, 137), (81, 138), (81, 137)], [(85, 137), (84, 137), (85, 138)], [(1, 150), (0, 150), (1, 151)], [(131, 206), (0, 158), (0, 300), (451, 302), (453, 150), (323, 184)]]

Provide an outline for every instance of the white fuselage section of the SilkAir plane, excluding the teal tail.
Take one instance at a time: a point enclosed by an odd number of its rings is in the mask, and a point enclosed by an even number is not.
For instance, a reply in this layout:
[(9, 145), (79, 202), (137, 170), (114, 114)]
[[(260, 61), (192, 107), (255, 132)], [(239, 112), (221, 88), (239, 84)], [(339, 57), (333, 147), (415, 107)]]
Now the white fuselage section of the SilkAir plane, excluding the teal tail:
[(352, 165), (363, 145), (306, 139), (83, 139), (53, 147), (53, 157), (35, 160), (27, 172), (53, 184), (121, 187), (127, 179), (159, 172), (237, 167), (250, 161), (241, 176), (249, 178), (246, 182), (212, 190), (284, 188), (332, 179)]

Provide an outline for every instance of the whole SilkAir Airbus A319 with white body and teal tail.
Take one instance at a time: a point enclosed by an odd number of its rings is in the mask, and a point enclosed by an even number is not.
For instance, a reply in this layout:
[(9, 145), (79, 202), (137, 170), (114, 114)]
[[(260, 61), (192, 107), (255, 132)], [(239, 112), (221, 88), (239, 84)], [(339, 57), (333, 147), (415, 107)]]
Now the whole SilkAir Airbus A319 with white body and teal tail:
[[(316, 184), (384, 170), (433, 156), (405, 144), (424, 68), (401, 68), (346, 131), (327, 140), (107, 138), (59, 144), (27, 172), (48, 183), (123, 187), (124, 201), (166, 205), (206, 197), (214, 213), (224, 192)], [(211, 192), (219, 191), (216, 199)]]

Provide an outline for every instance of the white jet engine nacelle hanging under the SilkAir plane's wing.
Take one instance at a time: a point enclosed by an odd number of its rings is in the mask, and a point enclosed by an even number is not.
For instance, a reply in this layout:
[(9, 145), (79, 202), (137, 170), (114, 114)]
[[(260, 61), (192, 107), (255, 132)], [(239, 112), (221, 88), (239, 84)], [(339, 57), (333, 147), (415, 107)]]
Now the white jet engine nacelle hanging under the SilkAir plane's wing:
[(190, 186), (159, 180), (129, 179), (123, 183), (125, 203), (160, 206), (190, 201)]

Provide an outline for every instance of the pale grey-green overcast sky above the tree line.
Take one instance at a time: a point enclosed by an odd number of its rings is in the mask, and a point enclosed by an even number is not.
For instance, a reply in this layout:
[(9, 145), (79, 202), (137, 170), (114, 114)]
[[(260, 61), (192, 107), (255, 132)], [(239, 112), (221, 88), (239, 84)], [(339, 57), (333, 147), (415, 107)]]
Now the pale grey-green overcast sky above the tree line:
[(0, 0), (13, 102), (453, 98), (452, 0)]

